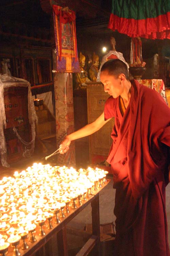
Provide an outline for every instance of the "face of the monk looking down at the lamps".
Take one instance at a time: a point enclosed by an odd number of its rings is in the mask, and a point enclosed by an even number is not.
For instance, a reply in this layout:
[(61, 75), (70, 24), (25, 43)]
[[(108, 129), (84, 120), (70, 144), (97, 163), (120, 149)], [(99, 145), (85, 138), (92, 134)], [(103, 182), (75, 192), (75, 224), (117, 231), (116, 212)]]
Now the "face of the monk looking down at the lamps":
[(102, 71), (100, 73), (100, 80), (104, 85), (105, 93), (113, 96), (113, 98), (116, 99), (123, 93), (124, 86), (123, 83), (121, 83), (120, 76), (116, 77), (114, 75), (109, 75), (108, 71)]

